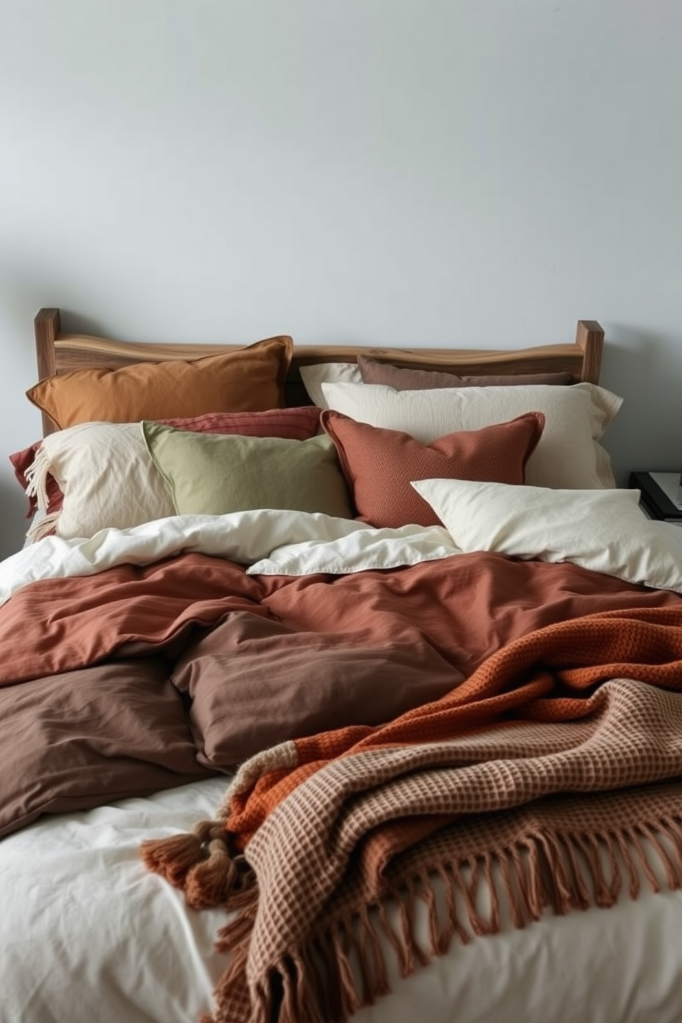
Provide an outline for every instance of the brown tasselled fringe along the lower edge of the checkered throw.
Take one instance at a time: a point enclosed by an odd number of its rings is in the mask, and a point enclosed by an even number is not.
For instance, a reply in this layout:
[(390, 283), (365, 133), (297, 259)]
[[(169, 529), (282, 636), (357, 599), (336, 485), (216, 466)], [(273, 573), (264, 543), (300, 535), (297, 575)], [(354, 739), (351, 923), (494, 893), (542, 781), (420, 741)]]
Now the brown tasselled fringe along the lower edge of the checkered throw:
[[(610, 906), (626, 882), (636, 898), (640, 877), (657, 892), (656, 868), (669, 888), (682, 887), (682, 821), (677, 817), (599, 834), (538, 832), (464, 860), (428, 862), (371, 905), (355, 903), (349, 909), (339, 902), (323, 927), (249, 989), (246, 966), (259, 897), (251, 877), (227, 898), (228, 910), (236, 916), (220, 931), (218, 948), (229, 952), (230, 962), (215, 992), (214, 1015), (203, 1023), (344, 1023), (390, 991), (391, 948), (393, 969), (408, 977), (443, 955), (455, 937), (467, 943), (497, 933), (503, 910), (521, 928), (547, 908), (563, 915)], [(425, 913), (426, 926), (418, 929), (427, 935), (425, 947), (415, 926), (418, 902), (421, 916)]]

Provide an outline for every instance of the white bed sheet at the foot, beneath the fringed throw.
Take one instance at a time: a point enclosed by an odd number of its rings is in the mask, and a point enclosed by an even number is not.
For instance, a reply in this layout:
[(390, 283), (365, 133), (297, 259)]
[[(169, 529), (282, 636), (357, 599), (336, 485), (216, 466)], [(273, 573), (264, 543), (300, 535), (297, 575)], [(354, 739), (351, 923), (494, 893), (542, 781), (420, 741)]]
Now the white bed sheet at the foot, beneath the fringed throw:
[[(225, 915), (188, 909), (138, 849), (212, 816), (225, 786), (48, 816), (0, 842), (1, 1023), (195, 1023), (211, 1009)], [(679, 1023), (680, 934), (680, 892), (548, 914), (453, 941), (407, 980), (392, 968), (393, 993), (354, 1023)]]

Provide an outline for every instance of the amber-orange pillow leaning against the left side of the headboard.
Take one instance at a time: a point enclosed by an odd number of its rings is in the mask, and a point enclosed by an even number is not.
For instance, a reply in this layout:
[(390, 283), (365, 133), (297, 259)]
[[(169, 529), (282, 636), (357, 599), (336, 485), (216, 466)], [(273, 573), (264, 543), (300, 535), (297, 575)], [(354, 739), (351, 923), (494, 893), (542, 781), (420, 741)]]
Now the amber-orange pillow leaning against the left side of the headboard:
[(191, 362), (137, 362), (48, 376), (27, 397), (61, 429), (79, 422), (139, 422), (206, 412), (281, 408), (292, 341), (269, 338)]

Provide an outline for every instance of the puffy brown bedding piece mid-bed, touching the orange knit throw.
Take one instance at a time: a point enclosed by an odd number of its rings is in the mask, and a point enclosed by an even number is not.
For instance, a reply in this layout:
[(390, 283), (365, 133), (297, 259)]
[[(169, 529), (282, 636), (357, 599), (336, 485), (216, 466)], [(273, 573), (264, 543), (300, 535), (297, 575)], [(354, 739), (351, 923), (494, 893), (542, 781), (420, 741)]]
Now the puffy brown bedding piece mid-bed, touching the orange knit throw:
[(416, 628), (358, 647), (353, 636), (235, 611), (182, 655), (172, 681), (192, 701), (196, 759), (221, 770), (290, 739), (391, 721), (462, 678)]

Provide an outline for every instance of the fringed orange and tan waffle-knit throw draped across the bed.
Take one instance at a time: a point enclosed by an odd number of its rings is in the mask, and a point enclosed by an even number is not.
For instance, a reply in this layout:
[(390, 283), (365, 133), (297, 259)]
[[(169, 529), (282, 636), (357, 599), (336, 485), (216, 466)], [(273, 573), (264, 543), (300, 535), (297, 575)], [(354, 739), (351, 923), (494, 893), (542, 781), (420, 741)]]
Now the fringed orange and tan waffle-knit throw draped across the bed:
[(331, 1023), (389, 989), (389, 945), (408, 975), (497, 931), (502, 902), (517, 926), (608, 906), (656, 888), (652, 857), (682, 884), (680, 774), (682, 607), (617, 611), (526, 635), (382, 727), (258, 755), (216, 820), (142, 855), (234, 910), (215, 1023)]

